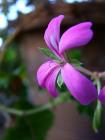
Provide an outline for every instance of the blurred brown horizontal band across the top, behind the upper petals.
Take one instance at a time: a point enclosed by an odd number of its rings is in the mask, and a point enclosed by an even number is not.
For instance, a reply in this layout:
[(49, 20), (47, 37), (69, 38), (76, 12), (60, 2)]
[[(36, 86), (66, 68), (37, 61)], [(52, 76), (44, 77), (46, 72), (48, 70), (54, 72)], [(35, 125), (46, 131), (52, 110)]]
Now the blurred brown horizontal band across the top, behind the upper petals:
[(21, 31), (43, 29), (48, 22), (55, 16), (64, 14), (63, 25), (72, 25), (78, 22), (90, 20), (95, 24), (105, 24), (105, 1), (103, 2), (84, 2), (84, 3), (58, 3), (40, 4), (38, 8), (27, 15), (22, 15), (11, 25), (20, 27)]

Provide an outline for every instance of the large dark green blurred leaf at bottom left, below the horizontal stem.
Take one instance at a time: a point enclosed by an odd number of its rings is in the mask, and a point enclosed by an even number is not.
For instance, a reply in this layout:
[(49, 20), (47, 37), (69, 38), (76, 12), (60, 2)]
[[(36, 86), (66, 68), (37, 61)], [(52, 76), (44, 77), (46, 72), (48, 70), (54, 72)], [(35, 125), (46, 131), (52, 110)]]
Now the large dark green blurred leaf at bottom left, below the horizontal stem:
[(49, 110), (17, 118), (15, 126), (7, 129), (3, 140), (45, 140), (52, 124), (53, 114)]

